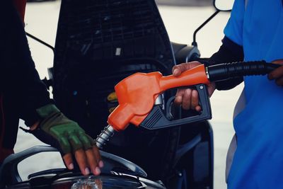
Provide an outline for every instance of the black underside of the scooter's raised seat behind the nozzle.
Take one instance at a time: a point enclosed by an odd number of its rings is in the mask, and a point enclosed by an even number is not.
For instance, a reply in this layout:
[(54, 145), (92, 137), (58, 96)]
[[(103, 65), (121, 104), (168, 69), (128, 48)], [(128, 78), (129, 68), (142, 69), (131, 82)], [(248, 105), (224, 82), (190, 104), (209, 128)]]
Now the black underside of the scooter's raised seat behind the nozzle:
[(117, 82), (137, 71), (170, 74), (174, 64), (154, 0), (62, 0), (54, 99), (70, 118), (83, 124), (98, 111), (105, 123)]

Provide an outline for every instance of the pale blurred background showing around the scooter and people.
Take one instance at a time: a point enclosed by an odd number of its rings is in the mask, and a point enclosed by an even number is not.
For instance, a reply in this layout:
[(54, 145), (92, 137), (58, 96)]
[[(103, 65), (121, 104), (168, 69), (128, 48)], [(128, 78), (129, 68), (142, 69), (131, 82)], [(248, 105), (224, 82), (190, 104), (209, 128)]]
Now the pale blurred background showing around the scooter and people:
[[(171, 41), (186, 44), (191, 44), (192, 33), (215, 11), (212, 0), (157, 0), (156, 3)], [(25, 30), (54, 46), (59, 8), (59, 0), (29, 1), (25, 11)], [(228, 19), (229, 13), (219, 13), (197, 34), (202, 57), (210, 57), (219, 49)], [(52, 50), (30, 38), (28, 41), (41, 79), (48, 77), (47, 68), (52, 67), (53, 62)], [(233, 106), (242, 88), (241, 85), (230, 91), (216, 91), (211, 98), (213, 118), (210, 122), (214, 130), (214, 188), (216, 189), (226, 188), (225, 159), (233, 136)], [(20, 125), (24, 126), (23, 121)], [(32, 135), (19, 130), (16, 152), (37, 144), (42, 143)], [(58, 166), (64, 166), (59, 154), (43, 153), (23, 161), (19, 168), (20, 173), (26, 177), (34, 171)]]

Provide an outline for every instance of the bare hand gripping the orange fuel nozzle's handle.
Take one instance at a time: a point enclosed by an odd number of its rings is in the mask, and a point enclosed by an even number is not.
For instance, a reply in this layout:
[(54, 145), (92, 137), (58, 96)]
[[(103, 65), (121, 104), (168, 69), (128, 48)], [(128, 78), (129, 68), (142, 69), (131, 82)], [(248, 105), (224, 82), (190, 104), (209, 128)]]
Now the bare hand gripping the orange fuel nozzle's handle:
[[(172, 69), (173, 76), (180, 76), (187, 69), (192, 69), (200, 65), (200, 62), (187, 62), (183, 64), (175, 65)], [(212, 96), (212, 93), (215, 91), (215, 83), (212, 82), (208, 87), (209, 96)], [(200, 112), (202, 108), (199, 105), (199, 95), (197, 90), (192, 88), (178, 88), (178, 91), (175, 95), (174, 103), (182, 105), (182, 108), (185, 110), (196, 110)]]

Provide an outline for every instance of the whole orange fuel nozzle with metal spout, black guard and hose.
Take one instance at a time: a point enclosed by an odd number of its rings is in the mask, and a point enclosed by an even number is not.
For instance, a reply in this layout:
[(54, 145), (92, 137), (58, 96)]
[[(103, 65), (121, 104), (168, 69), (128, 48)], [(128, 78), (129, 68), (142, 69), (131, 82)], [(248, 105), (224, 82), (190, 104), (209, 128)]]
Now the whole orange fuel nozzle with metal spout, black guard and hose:
[[(115, 130), (125, 130), (129, 123), (156, 130), (211, 119), (209, 94), (205, 84), (209, 85), (209, 81), (233, 79), (238, 76), (264, 75), (278, 67), (278, 64), (270, 64), (265, 61), (232, 62), (211, 65), (206, 68), (201, 64), (184, 71), (178, 77), (162, 76), (160, 72), (133, 74), (115, 86), (119, 105), (108, 117), (110, 125), (98, 135), (97, 145), (101, 149)], [(200, 105), (202, 105), (202, 112), (199, 115), (174, 120), (170, 118), (171, 113), (167, 111), (171, 108), (174, 97), (168, 99), (165, 105), (166, 113), (161, 105), (155, 103), (161, 93), (169, 88), (180, 86), (195, 86), (197, 89)]]

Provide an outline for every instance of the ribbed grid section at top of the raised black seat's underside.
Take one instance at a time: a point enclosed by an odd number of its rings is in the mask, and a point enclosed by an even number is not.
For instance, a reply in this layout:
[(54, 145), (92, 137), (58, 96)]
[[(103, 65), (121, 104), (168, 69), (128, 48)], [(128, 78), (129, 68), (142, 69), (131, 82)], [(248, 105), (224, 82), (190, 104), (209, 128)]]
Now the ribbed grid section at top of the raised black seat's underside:
[(113, 42), (157, 33), (154, 13), (147, 8), (146, 1), (89, 1), (86, 6), (81, 6), (83, 3), (70, 4), (79, 7), (69, 17), (71, 45), (78, 47), (91, 42)]

